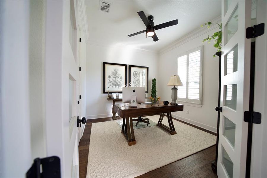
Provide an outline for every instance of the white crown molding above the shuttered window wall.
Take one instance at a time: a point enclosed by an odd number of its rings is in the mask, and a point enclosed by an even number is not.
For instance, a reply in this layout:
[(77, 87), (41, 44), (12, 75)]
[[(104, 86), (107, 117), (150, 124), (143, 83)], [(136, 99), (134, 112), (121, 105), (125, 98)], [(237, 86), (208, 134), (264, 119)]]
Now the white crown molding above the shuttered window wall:
[[(221, 16), (219, 16), (219, 17), (217, 17), (217, 18), (215, 18), (213, 20), (210, 20), (210, 22), (221, 23)], [(209, 32), (209, 31), (212, 31), (215, 28), (218, 28), (218, 27), (213, 25), (210, 28), (197, 28), (194, 31), (191, 31), (190, 33), (186, 34), (182, 38), (179, 38), (175, 42), (172, 42), (171, 44), (163, 47), (161, 50), (159, 50), (159, 55), (167, 53), (168, 51), (173, 50), (176, 47), (178, 47), (180, 45), (183, 45), (183, 44), (191, 41), (192, 39), (195, 39), (198, 36), (201, 36), (201, 35)]]

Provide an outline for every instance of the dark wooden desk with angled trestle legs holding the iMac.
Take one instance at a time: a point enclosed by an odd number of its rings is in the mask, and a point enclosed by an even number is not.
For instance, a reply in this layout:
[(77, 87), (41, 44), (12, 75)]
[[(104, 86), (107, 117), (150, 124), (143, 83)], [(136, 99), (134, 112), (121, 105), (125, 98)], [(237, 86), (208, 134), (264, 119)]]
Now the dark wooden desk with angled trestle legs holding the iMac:
[[(136, 144), (133, 124), (132, 124), (132, 117), (160, 115), (157, 126), (168, 131), (171, 135), (176, 134), (174, 125), (172, 123), (172, 112), (183, 111), (182, 104), (178, 104), (178, 105), (169, 104), (168, 106), (164, 106), (163, 103), (160, 102), (160, 104), (156, 106), (138, 104), (137, 108), (129, 107), (129, 105), (122, 107), (124, 105), (125, 105), (124, 103), (114, 104), (114, 110), (115, 112), (118, 113), (120, 117), (123, 117), (121, 133), (126, 138), (129, 146)], [(167, 113), (169, 127), (167, 125), (162, 124), (164, 113)]]

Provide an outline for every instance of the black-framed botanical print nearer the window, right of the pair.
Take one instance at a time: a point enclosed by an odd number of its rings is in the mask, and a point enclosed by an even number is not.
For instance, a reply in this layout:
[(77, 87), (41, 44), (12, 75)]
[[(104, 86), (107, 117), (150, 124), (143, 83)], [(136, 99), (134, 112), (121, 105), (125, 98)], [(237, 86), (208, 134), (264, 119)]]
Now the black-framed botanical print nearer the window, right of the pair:
[(129, 87), (146, 87), (148, 93), (148, 67), (129, 65)]

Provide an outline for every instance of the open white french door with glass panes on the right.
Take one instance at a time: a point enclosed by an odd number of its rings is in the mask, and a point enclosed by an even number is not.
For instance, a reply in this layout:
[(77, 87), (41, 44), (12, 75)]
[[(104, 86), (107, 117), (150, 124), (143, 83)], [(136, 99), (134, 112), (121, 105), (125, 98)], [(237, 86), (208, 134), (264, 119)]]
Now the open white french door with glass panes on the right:
[(251, 1), (222, 1), (222, 65), (218, 177), (245, 177), (249, 110)]

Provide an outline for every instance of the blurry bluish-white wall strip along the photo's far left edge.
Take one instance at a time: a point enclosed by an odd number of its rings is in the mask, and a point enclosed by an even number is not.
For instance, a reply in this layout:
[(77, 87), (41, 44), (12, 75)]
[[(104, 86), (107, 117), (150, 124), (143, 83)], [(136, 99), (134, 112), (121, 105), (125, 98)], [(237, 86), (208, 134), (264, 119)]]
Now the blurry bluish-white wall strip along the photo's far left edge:
[(29, 1), (1, 1), (1, 175), (25, 177), (31, 167)]

